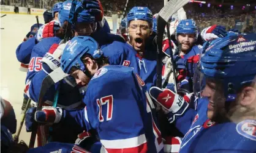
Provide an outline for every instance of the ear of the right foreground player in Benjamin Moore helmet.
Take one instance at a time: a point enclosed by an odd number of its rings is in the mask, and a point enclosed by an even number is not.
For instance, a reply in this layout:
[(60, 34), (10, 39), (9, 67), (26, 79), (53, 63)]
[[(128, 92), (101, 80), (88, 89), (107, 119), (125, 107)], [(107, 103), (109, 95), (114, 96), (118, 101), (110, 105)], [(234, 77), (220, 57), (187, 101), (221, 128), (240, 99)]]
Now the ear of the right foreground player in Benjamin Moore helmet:
[(252, 105), (256, 101), (256, 89), (250, 86), (243, 88), (239, 99), (243, 106)]

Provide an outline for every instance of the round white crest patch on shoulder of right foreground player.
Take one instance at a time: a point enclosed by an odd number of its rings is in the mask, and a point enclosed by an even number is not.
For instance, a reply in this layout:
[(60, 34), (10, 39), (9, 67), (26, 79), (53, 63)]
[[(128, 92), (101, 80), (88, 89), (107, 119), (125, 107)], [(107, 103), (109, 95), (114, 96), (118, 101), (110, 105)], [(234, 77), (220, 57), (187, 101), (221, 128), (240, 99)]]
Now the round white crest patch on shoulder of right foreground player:
[(236, 131), (250, 140), (256, 141), (256, 121), (247, 119), (236, 125)]

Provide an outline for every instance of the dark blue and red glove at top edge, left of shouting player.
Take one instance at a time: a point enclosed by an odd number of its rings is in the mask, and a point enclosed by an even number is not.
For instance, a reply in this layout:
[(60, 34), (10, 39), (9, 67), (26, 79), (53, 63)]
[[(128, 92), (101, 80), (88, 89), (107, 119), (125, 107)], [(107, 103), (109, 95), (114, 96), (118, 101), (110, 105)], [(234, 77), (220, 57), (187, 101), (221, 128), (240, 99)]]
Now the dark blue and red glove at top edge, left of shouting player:
[(104, 10), (99, 0), (82, 0), (81, 3), (95, 16), (96, 21), (103, 20)]

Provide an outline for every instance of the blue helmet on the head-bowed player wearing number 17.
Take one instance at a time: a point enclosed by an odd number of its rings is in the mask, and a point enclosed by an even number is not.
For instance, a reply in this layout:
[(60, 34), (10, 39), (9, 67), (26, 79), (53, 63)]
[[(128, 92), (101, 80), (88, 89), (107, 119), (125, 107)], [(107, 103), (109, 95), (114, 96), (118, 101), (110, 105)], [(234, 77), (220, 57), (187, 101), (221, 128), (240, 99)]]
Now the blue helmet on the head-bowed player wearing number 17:
[(85, 54), (90, 54), (94, 59), (98, 59), (103, 55), (99, 49), (99, 44), (91, 37), (78, 36), (73, 37), (67, 43), (61, 56), (61, 68), (64, 73), (69, 74), (72, 67), (81, 69), (86, 73), (85, 64), (82, 62), (81, 57)]

